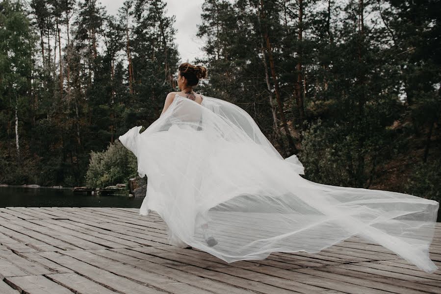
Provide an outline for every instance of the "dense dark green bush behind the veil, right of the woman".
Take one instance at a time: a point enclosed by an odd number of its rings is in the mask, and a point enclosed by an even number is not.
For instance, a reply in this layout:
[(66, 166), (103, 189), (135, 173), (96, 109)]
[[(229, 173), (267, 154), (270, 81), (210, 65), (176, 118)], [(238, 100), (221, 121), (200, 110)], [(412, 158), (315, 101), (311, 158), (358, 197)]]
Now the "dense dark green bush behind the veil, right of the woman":
[(300, 161), (305, 177), (333, 186), (369, 188), (379, 162), (389, 156), (392, 135), (372, 125), (326, 125), (318, 120), (303, 133)]

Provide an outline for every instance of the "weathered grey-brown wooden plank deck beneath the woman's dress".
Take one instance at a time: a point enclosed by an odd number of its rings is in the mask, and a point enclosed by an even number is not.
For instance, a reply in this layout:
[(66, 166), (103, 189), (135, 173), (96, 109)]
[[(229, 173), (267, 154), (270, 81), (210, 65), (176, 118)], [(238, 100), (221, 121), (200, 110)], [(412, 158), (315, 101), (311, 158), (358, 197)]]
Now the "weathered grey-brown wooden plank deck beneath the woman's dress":
[[(319, 254), (228, 264), (167, 245), (159, 216), (138, 211), (0, 208), (0, 294), (441, 294), (441, 270), (417, 270), (357, 237)], [(441, 268), (441, 223), (431, 259)]]

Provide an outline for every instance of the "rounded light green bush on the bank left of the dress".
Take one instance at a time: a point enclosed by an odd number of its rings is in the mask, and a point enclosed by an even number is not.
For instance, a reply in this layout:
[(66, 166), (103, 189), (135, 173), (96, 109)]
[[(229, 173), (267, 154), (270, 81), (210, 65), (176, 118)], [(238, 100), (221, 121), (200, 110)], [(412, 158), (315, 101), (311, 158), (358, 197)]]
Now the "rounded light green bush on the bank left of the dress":
[(92, 151), (86, 172), (86, 185), (104, 188), (118, 183), (126, 183), (137, 174), (136, 157), (119, 141), (110, 144), (102, 152)]

